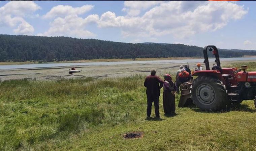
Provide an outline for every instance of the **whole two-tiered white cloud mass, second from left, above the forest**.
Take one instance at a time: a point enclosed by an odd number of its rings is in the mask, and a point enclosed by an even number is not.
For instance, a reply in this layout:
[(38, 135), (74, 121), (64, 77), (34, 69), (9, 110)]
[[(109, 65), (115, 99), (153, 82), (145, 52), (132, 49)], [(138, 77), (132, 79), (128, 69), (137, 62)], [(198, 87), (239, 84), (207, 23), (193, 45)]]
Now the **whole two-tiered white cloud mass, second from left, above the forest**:
[(44, 32), (37, 34), (38, 36), (69, 36), (76, 38), (91, 38), (96, 34), (86, 30), (86, 26), (90, 23), (99, 21), (97, 14), (88, 15), (86, 18), (79, 17), (91, 9), (93, 5), (83, 5), (81, 7), (72, 7), (69, 5), (58, 5), (53, 7), (49, 12), (43, 15), (43, 18), (51, 19), (50, 28)]

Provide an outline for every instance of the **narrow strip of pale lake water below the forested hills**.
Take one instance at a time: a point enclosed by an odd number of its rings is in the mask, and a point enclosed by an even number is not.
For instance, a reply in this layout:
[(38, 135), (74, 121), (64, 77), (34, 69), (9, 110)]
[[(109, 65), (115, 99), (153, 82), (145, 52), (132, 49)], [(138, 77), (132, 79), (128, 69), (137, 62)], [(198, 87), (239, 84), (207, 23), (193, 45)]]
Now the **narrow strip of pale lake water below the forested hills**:
[[(214, 62), (210, 58), (209, 62)], [(221, 61), (256, 61), (256, 57), (239, 57), (239, 58), (220, 58)], [(203, 62), (204, 59), (179, 59), (179, 60), (148, 60), (148, 61), (114, 61), (114, 62), (80, 62), (80, 63), (41, 63), (41, 64), (19, 64), (19, 65), (0, 65), (0, 69), (22, 69), (22, 68), (47, 68), (63, 66), (91, 66), (91, 65), (121, 65), (121, 64), (168, 64), (168, 63), (197, 63)]]

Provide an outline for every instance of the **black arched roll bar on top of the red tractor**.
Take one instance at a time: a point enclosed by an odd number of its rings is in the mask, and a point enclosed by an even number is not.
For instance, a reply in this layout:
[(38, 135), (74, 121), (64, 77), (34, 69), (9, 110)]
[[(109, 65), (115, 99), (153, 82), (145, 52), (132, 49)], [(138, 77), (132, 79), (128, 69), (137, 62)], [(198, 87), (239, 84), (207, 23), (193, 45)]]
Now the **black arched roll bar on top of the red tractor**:
[(204, 56), (204, 61), (206, 70), (210, 70), (210, 65), (209, 65), (209, 59), (208, 59), (208, 54), (207, 54), (207, 49), (209, 48), (209, 51), (213, 51), (213, 55), (215, 55), (215, 62), (217, 66), (220, 66), (220, 57), (219, 57), (219, 51), (216, 46), (205, 46), (203, 48), (203, 56)]

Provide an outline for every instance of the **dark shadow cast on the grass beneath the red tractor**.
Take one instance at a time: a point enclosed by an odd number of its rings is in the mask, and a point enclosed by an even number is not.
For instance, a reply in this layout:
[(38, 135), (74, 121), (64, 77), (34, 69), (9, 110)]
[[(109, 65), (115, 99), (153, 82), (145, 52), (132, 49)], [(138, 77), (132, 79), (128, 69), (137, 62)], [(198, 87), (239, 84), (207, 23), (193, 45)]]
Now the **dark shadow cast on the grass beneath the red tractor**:
[(229, 104), (226, 109), (223, 109), (221, 111), (201, 110), (199, 108), (195, 108), (195, 106), (190, 108), (195, 112), (202, 112), (202, 113), (226, 113), (230, 111), (242, 111), (242, 112), (250, 112), (250, 113), (256, 112), (256, 109), (251, 109), (246, 104), (238, 104), (238, 105)]

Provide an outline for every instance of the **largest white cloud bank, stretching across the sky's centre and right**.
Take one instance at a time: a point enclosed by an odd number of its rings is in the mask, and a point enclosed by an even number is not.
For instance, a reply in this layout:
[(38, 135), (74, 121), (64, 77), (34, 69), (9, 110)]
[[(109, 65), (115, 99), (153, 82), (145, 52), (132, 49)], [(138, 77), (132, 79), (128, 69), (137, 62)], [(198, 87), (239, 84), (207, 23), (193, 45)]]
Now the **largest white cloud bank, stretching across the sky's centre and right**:
[[(141, 17), (134, 16), (137, 13), (129, 15), (128, 9), (145, 10), (152, 6)], [(103, 13), (98, 26), (121, 28), (123, 36), (154, 37), (170, 34), (184, 38), (219, 30), (230, 20), (241, 19), (248, 13), (244, 6), (227, 1), (168, 1), (160, 4), (125, 2), (123, 10), (128, 12), (128, 16), (116, 16), (110, 11)]]

